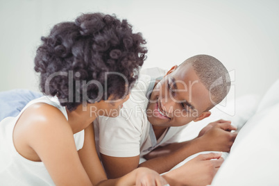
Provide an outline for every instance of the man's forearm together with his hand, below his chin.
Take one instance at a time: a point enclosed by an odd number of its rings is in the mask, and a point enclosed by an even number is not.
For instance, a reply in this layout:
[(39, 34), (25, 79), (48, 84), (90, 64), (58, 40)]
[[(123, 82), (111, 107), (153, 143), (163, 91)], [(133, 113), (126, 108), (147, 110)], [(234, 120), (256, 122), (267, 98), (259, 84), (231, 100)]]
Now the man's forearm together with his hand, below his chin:
[(230, 133), (231, 130), (236, 130), (230, 122), (215, 121), (209, 124), (210, 127), (207, 131), (203, 131), (204, 135), (190, 140), (188, 142), (169, 144), (155, 149), (150, 155), (144, 158), (148, 160), (140, 164), (140, 167), (149, 167), (158, 173), (169, 171), (179, 162), (183, 161), (189, 155), (201, 151), (223, 151), (229, 152), (230, 147), (235, 141), (237, 133)]

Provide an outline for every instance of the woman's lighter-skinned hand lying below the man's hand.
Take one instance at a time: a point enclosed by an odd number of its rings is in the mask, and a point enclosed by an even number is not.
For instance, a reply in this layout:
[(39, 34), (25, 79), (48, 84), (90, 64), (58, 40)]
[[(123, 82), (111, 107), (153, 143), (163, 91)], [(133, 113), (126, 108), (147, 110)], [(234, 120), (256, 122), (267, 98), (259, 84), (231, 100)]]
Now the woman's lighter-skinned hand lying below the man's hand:
[(170, 185), (210, 185), (222, 163), (221, 153), (202, 154), (163, 177)]

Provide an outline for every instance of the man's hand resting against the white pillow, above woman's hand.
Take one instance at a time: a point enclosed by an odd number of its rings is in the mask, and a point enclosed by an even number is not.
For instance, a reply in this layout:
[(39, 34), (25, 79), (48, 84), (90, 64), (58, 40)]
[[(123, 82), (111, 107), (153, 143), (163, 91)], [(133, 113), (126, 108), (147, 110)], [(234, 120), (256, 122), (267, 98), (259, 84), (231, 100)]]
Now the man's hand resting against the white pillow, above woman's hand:
[(204, 151), (229, 152), (237, 137), (237, 132), (231, 133), (230, 131), (236, 129), (235, 126), (230, 125), (230, 121), (215, 121), (203, 128), (198, 139), (201, 140)]

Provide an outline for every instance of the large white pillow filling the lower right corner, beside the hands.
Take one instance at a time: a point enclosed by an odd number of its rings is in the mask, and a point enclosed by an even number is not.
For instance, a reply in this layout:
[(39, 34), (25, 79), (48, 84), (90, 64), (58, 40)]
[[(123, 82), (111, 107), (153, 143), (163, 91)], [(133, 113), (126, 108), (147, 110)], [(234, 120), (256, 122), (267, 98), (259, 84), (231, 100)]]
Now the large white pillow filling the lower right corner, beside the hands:
[(278, 113), (279, 103), (248, 120), (212, 186), (279, 185)]

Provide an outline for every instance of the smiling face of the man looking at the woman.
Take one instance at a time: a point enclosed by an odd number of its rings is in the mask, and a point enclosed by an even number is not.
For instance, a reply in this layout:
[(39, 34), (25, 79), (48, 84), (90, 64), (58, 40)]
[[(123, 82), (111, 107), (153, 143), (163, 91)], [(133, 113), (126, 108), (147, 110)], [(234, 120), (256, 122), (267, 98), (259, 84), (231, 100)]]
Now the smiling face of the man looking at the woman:
[(153, 126), (183, 126), (201, 117), (211, 104), (210, 93), (192, 65), (184, 65), (170, 70), (155, 85), (146, 115)]

